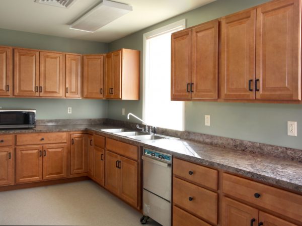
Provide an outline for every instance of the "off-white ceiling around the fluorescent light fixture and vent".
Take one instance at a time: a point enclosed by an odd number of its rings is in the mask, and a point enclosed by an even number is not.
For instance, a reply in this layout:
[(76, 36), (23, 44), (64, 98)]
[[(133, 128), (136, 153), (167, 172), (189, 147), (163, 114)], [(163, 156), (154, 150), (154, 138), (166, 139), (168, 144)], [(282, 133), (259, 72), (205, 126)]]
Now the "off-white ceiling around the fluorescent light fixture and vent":
[(95, 33), (69, 29), (74, 20), (101, 0), (77, 0), (69, 9), (34, 3), (34, 0), (0, 0), (0, 28), (99, 42), (111, 42), (143, 28), (214, 2), (215, 0), (115, 0), (133, 11)]

